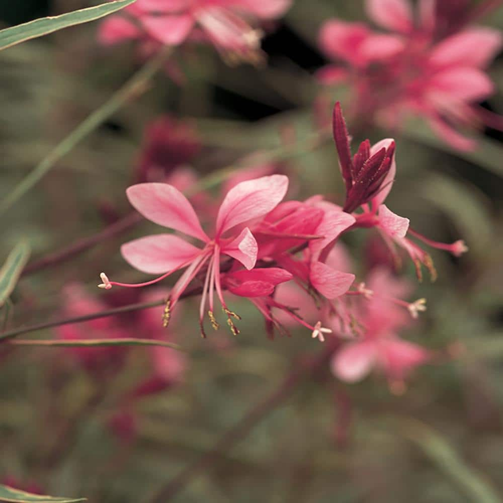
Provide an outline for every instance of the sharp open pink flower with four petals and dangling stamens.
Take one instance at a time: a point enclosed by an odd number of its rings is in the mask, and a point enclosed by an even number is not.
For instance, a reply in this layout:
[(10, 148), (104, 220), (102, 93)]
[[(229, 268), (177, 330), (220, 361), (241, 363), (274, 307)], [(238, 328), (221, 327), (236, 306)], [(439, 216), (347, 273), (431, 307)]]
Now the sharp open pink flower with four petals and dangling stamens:
[[(201, 241), (203, 247), (194, 246), (175, 234), (156, 234), (135, 239), (122, 245), (121, 253), (124, 259), (139, 271), (148, 274), (162, 273), (161, 276), (145, 283), (125, 284), (109, 281), (102, 273), (103, 283), (99, 285), (100, 288), (110, 289), (112, 285), (147, 286), (185, 268), (185, 272), (175, 283), (166, 302), (164, 325), (167, 326), (171, 310), (178, 303), (180, 296), (203, 267), (206, 267), (199, 312), (201, 333), (205, 335), (203, 319), (207, 304), (209, 306), (207, 314), (211, 324), (213, 328), (218, 328), (214, 315), (215, 291), (232, 333), (239, 333), (233, 322), (233, 319), (239, 319), (239, 316), (227, 307), (223, 298), (221, 260), (225, 256), (235, 259), (248, 271), (255, 267), (258, 244), (250, 229), (243, 228), (242, 225), (263, 217), (273, 210), (283, 199), (287, 189), (288, 178), (283, 175), (272, 175), (237, 184), (222, 201), (216, 217), (215, 232), (210, 238), (202, 229), (190, 202), (175, 187), (161, 183), (145, 183), (129, 187), (126, 194), (130, 203), (145, 218), (191, 236)], [(227, 283), (235, 289), (239, 285), (234, 287), (233, 281), (239, 283), (239, 274), (243, 276), (243, 273), (236, 272), (234, 276), (229, 275), (226, 279)], [(260, 272), (254, 271), (250, 272), (244, 280), (241, 278), (241, 293), (247, 292), (249, 295), (257, 282), (264, 283), (259, 275)], [(282, 282), (287, 279), (290, 277), (271, 274), (268, 283), (275, 284), (276, 280)], [(268, 289), (269, 287), (266, 287), (266, 290)]]

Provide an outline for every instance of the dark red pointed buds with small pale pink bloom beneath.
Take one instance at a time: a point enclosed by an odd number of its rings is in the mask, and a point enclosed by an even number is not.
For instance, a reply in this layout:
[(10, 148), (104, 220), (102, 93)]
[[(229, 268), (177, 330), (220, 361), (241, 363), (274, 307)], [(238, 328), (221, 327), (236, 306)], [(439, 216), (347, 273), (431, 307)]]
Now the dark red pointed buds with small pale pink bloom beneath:
[(420, 279), (421, 265), (430, 271), (432, 280), (436, 279), (437, 273), (430, 255), (406, 237), (407, 233), (432, 247), (449, 251), (456, 257), (468, 250), (462, 240), (452, 244), (439, 243), (409, 229), (408, 218), (396, 215), (384, 204), (396, 174), (394, 140), (384, 139), (373, 146), (365, 140), (352, 157), (350, 136), (339, 102), (333, 109), (333, 137), (346, 184), (344, 211), (354, 212), (357, 208), (363, 210), (362, 213), (353, 214), (356, 219), (355, 227), (375, 227), (391, 251), (394, 251), (394, 244), (402, 247), (414, 262)]

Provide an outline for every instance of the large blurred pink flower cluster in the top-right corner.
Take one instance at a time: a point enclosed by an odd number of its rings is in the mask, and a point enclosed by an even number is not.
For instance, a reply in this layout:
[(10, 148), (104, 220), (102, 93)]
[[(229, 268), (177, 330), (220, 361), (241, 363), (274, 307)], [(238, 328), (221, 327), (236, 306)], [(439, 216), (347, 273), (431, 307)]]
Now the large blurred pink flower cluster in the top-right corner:
[(350, 83), (351, 114), (361, 121), (396, 128), (413, 114), (455, 148), (473, 148), (462, 129), (503, 124), (477, 105), (494, 92), (485, 69), (502, 38), (497, 30), (466, 27), (469, 10), (462, 4), (420, 0), (414, 16), (409, 0), (367, 0), (368, 16), (387, 33), (326, 21), (319, 41), (334, 63), (319, 70), (319, 80)]

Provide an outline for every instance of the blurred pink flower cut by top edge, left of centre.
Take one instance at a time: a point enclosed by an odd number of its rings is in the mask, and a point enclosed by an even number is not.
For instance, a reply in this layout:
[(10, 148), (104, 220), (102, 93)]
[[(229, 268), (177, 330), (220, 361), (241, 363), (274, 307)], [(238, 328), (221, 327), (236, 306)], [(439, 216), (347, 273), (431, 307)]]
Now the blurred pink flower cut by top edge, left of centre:
[(180, 45), (188, 38), (206, 40), (218, 51), (255, 61), (261, 32), (248, 22), (274, 19), (291, 0), (137, 0), (121, 15), (102, 24), (104, 44), (146, 38), (158, 44)]

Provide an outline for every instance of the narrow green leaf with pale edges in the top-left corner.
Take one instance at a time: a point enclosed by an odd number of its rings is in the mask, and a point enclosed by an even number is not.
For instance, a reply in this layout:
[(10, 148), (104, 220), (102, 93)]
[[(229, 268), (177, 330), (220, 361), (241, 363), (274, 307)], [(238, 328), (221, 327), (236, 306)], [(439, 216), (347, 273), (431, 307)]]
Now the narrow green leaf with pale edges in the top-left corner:
[(5, 30), (0, 30), (0, 50), (7, 49), (13, 45), (25, 42), (32, 38), (41, 37), (49, 33), (67, 28), (69, 26), (88, 23), (95, 19), (108, 16), (124, 7), (132, 4), (136, 0), (117, 0), (106, 4), (79, 9), (78, 11), (68, 12), (61, 16), (50, 16), (47, 18), (35, 19), (29, 23), (12, 26)]

